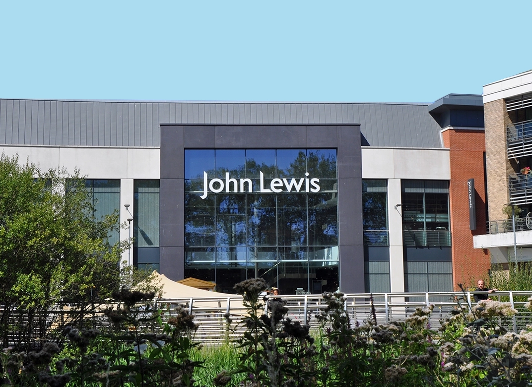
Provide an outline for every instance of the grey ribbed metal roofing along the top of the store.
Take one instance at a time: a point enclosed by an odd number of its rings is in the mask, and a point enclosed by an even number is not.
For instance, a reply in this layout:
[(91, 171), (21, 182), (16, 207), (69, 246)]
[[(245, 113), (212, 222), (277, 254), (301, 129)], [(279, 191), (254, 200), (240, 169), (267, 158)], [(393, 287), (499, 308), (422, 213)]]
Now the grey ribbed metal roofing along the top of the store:
[(0, 99), (0, 144), (159, 147), (160, 123), (360, 123), (362, 145), (440, 148), (428, 104)]

